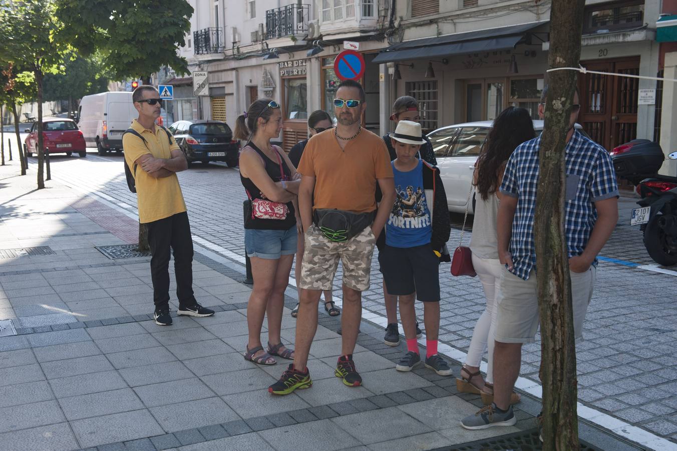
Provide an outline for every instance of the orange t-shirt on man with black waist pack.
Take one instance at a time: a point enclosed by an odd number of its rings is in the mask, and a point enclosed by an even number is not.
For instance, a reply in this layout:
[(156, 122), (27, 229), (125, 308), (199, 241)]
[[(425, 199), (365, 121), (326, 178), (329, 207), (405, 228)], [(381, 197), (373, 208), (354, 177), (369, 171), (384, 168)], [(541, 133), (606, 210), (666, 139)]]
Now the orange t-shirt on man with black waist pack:
[(336, 141), (334, 129), (311, 137), (298, 170), (315, 177), (314, 209), (353, 213), (376, 210), (376, 179), (393, 178), (383, 138), (365, 129), (345, 149)]

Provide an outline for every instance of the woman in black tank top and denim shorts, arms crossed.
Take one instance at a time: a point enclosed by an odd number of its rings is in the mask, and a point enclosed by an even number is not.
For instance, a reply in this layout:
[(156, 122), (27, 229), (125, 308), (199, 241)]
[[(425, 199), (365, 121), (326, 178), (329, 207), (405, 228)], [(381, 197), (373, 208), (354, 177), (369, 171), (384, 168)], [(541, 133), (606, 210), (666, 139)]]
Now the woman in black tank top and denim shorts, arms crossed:
[[(240, 152), (240, 180), (249, 198), (244, 218), (244, 246), (251, 259), (254, 287), (247, 305), (249, 339), (244, 358), (261, 365), (276, 364), (273, 356), (292, 360), (282, 345), (280, 328), (284, 290), (297, 251), (296, 168), (281, 148), (270, 144), (280, 136), (280, 105), (257, 100), (238, 116), (234, 135), (247, 143)], [(263, 318), (268, 315), (268, 345), (261, 345)]]

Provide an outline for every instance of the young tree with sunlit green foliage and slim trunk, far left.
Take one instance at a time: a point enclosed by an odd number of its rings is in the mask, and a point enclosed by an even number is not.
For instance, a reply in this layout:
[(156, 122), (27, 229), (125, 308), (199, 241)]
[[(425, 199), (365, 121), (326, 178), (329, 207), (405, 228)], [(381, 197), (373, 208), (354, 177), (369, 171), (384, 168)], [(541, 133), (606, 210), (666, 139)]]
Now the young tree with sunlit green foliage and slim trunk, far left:
[[(66, 22), (67, 23), (67, 22)], [(38, 189), (45, 188), (43, 153), (43, 77), (58, 71), (68, 45), (53, 2), (21, 0), (0, 8), (0, 61), (13, 63), (35, 77), (38, 104)]]

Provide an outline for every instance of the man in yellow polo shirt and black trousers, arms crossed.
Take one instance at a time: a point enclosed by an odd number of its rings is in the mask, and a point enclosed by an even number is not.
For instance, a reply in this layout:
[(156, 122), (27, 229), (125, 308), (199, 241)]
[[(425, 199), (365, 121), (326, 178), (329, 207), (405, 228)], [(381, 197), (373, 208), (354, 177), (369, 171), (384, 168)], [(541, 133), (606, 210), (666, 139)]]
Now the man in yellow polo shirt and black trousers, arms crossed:
[(139, 222), (148, 228), (155, 323), (160, 326), (172, 323), (169, 314), (169, 257), (172, 250), (178, 314), (212, 316), (214, 311), (198, 304), (193, 294), (193, 240), (176, 175), (185, 171), (188, 163), (167, 129), (155, 124), (162, 106), (158, 90), (141, 85), (135, 89), (132, 102), (139, 117), (132, 121), (131, 132), (127, 131), (123, 136), (123, 148), (136, 185)]

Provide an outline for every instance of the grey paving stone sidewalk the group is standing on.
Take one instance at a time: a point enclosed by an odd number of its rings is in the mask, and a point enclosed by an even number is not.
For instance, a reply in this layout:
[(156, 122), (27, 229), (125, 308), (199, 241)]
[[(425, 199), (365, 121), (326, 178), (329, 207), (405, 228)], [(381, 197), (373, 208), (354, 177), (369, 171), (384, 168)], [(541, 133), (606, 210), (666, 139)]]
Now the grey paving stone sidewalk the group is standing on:
[[(250, 288), (238, 272), (196, 255), (196, 297), (217, 315), (156, 326), (148, 257), (110, 260), (94, 247), (133, 241), (135, 221), (56, 181), (35, 191), (34, 177), (14, 169), (0, 168), (0, 249), (53, 254), (0, 259), (0, 319), (18, 330), (0, 337), (3, 449), (412, 450), (536, 425), (540, 404), (525, 397), (515, 427), (462, 429), (479, 398), (457, 393), (453, 377), (396, 372), (403, 345), (383, 345), (383, 331), (367, 323), (355, 350), (364, 387), (344, 387), (333, 377), (339, 320), (324, 311), (309, 360), (313, 387), (273, 397), (265, 387), (284, 361), (242, 358)], [(286, 308), (286, 343), (294, 326)], [(636, 449), (585, 423), (581, 437), (603, 450)]]

